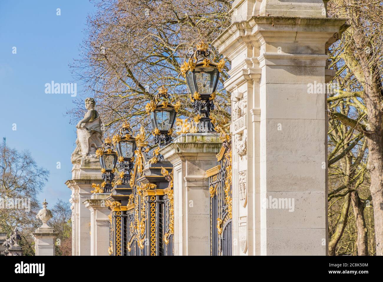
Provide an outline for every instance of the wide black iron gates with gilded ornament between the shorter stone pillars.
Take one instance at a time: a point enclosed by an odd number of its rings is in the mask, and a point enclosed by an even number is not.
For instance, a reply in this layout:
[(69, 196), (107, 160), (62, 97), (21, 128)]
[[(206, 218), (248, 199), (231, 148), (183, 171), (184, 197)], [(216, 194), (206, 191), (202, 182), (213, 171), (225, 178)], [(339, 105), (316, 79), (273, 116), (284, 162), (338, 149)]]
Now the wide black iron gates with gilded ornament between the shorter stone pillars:
[(109, 254), (172, 256), (173, 168), (169, 162), (150, 162), (142, 150), (144, 135), (136, 140), (129, 185), (113, 188), (106, 203), (111, 209)]

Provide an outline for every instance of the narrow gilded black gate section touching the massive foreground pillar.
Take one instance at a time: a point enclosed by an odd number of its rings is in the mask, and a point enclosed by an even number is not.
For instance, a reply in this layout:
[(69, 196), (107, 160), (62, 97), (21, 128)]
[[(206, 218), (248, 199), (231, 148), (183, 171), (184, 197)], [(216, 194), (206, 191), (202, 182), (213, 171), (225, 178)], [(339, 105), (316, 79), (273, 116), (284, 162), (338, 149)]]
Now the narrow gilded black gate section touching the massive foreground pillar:
[(221, 136), (218, 165), (207, 170), (210, 193), (210, 255), (232, 254), (232, 193), (230, 135)]

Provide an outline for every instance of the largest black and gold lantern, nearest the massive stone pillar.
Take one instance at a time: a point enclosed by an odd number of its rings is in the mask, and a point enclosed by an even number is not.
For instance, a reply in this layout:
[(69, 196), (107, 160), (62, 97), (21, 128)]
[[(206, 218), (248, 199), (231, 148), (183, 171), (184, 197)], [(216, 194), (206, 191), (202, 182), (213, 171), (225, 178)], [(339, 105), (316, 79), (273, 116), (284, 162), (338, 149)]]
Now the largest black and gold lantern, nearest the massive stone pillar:
[[(219, 73), (225, 61), (214, 63), (216, 56), (208, 44), (201, 41), (188, 62), (181, 66), (181, 73), (191, 93), (191, 105), (197, 114), (199, 132), (215, 132), (210, 119), (210, 110), (214, 109), (214, 99)], [(202, 117), (201, 115), (205, 115)]]

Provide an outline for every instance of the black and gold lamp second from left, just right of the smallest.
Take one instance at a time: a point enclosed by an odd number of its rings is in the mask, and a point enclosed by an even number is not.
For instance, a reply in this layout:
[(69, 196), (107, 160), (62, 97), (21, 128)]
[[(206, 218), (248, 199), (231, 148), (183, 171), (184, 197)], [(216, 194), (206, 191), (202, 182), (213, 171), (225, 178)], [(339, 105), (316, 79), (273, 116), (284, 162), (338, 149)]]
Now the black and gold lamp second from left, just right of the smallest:
[(128, 122), (124, 122), (118, 134), (113, 136), (113, 143), (118, 153), (118, 169), (121, 171), (116, 185), (128, 185), (131, 172), (134, 167), (134, 151), (136, 150), (136, 139), (133, 137), (134, 130)]

